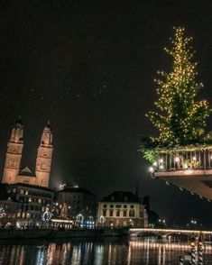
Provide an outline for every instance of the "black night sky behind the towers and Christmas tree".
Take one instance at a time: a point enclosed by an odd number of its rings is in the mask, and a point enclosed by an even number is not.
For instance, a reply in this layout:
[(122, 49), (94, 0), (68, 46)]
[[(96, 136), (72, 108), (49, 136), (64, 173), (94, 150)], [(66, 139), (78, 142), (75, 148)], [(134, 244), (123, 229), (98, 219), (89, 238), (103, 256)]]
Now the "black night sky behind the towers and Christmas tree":
[(173, 26), (184, 26), (194, 37), (205, 85), (199, 98), (212, 105), (212, 2), (0, 3), (1, 171), (15, 119), (22, 115), (22, 166), (31, 169), (50, 120), (51, 187), (78, 184), (101, 198), (114, 190), (134, 192), (138, 184), (139, 195), (149, 195), (152, 208), (170, 224), (191, 217), (210, 224), (212, 204), (150, 178), (137, 150), (141, 137), (157, 133), (145, 114), (157, 99), (157, 70), (171, 67), (163, 47)]

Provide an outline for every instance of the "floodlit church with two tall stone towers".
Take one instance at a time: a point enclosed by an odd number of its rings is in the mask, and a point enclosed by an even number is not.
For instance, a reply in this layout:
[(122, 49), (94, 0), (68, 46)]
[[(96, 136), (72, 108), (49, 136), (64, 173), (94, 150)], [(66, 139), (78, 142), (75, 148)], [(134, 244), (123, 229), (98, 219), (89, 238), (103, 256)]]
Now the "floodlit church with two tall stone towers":
[(23, 122), (18, 119), (7, 144), (3, 183), (26, 183), (41, 187), (49, 187), (52, 159), (52, 132), (47, 123), (41, 134), (41, 144), (38, 148), (35, 172), (25, 167), (21, 169), (23, 154)]

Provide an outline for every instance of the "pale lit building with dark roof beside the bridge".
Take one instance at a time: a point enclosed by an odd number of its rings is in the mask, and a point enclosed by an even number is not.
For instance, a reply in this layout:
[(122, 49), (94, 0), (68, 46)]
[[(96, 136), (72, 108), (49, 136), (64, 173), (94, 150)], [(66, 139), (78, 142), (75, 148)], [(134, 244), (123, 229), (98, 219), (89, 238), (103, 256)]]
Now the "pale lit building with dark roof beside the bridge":
[(115, 191), (101, 200), (97, 221), (104, 226), (148, 226), (148, 216), (140, 197), (129, 191)]

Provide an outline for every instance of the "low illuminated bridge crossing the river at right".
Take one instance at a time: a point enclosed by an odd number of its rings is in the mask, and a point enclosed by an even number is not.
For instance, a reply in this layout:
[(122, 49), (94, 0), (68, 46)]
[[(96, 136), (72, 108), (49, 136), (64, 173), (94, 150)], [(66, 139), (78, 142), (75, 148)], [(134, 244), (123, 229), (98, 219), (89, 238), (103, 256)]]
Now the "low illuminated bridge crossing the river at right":
[(130, 228), (130, 235), (145, 236), (155, 235), (161, 237), (168, 237), (171, 235), (186, 235), (188, 237), (199, 237), (212, 239), (212, 231), (199, 231), (199, 230), (183, 230), (183, 229), (161, 229), (161, 228)]

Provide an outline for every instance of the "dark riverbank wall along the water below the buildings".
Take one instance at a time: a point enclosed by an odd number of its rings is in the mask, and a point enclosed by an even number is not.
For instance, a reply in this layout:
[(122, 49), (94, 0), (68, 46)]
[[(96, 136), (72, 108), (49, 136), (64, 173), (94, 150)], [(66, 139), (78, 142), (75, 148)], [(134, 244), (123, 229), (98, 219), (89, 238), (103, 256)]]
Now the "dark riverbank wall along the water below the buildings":
[(127, 227), (115, 227), (115, 228), (95, 228), (95, 229), (83, 229), (72, 228), (65, 229), (1, 229), (0, 240), (13, 240), (13, 239), (68, 239), (78, 237), (124, 237), (129, 233)]

